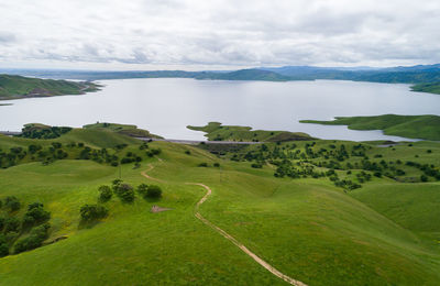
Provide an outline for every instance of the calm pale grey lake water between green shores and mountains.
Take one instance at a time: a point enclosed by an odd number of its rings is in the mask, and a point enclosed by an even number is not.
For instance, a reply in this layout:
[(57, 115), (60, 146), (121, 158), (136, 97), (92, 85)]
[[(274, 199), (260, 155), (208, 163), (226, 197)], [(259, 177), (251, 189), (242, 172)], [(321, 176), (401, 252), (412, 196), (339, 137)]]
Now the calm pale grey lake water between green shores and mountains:
[(170, 139), (204, 139), (186, 125), (209, 121), (254, 129), (301, 131), (321, 139), (399, 140), (381, 131), (299, 123), (338, 116), (440, 114), (440, 96), (408, 85), (353, 81), (221, 81), (195, 79), (102, 80), (85, 96), (31, 98), (0, 107), (0, 130), (24, 123), (81, 127), (100, 122), (136, 124)]

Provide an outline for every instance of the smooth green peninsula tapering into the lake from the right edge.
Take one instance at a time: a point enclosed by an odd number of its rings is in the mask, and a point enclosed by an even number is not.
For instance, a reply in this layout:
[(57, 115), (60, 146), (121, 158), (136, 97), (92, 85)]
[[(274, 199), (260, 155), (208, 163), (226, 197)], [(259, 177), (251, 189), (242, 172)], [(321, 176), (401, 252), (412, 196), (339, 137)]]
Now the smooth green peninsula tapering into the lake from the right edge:
[(383, 130), (384, 134), (411, 139), (440, 140), (440, 117), (396, 116), (337, 117), (332, 121), (300, 120), (301, 123), (348, 125), (353, 130)]

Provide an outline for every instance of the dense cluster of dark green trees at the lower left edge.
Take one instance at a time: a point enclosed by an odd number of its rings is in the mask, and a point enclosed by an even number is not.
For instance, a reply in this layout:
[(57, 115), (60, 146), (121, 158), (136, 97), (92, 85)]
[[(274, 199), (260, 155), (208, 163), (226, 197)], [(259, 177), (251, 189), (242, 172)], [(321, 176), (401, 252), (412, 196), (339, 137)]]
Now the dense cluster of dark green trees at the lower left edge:
[(18, 217), (20, 208), (16, 197), (0, 200), (0, 209), (7, 213), (0, 217), (0, 257), (40, 248), (48, 238), (51, 212), (44, 209), (43, 204), (30, 204), (21, 219)]

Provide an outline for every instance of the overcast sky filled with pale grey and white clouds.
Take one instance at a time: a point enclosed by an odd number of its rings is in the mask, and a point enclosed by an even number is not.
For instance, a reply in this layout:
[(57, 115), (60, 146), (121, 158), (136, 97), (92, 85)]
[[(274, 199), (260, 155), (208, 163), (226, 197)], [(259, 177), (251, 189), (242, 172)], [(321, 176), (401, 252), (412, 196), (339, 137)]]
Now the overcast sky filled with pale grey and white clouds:
[(440, 62), (439, 0), (0, 0), (1, 67)]

